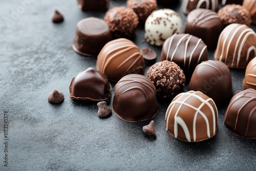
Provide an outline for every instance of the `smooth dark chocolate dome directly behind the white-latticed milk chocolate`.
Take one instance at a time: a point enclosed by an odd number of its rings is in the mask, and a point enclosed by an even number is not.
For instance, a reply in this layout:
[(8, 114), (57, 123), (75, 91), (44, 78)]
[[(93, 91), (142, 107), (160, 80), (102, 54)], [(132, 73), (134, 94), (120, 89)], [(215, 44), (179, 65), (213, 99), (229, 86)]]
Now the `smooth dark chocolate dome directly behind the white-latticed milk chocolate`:
[(232, 78), (228, 67), (218, 60), (200, 63), (190, 79), (188, 90), (204, 93), (212, 98), (217, 106), (228, 103), (233, 96)]

